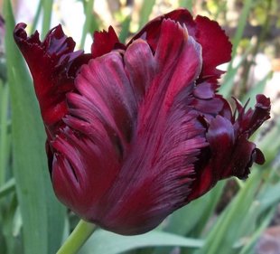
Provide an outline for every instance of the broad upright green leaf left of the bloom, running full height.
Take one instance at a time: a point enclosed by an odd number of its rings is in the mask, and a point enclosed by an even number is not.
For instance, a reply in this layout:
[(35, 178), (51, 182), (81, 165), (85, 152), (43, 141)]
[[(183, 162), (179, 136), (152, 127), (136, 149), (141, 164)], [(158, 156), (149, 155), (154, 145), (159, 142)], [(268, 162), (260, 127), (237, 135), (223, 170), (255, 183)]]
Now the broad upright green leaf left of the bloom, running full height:
[(5, 0), (5, 24), (12, 104), (13, 172), (23, 219), (24, 253), (50, 254), (61, 245), (65, 209), (52, 193), (42, 120), (32, 80), (14, 43), (14, 15), (9, 0)]

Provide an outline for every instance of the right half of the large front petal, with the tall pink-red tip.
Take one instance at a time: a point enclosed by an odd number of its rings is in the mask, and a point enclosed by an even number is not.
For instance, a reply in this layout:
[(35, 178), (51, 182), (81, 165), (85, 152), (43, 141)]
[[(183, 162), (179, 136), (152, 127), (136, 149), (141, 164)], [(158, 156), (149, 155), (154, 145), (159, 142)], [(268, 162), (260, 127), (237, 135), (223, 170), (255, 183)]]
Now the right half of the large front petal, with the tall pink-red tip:
[[(140, 105), (131, 151), (119, 172), (122, 181), (107, 197), (108, 203), (117, 199), (129, 204), (107, 214), (106, 221), (115, 223), (111, 227), (124, 234), (150, 230), (186, 203), (196, 156), (208, 145), (198, 113), (187, 106), (201, 69), (199, 45), (180, 24), (163, 21), (154, 61), (154, 80)], [(127, 183), (125, 189), (123, 183)], [(121, 221), (126, 224), (117, 229)]]

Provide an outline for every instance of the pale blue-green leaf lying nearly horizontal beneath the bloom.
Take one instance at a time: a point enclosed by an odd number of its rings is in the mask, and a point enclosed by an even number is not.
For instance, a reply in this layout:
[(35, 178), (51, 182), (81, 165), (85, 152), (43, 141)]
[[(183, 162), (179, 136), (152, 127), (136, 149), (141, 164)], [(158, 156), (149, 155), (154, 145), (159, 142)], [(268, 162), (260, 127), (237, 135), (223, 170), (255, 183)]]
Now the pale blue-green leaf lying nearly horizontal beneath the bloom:
[(121, 236), (105, 230), (97, 230), (79, 254), (117, 254), (130, 249), (153, 246), (200, 248), (202, 244), (202, 240), (184, 238), (157, 230), (137, 236)]

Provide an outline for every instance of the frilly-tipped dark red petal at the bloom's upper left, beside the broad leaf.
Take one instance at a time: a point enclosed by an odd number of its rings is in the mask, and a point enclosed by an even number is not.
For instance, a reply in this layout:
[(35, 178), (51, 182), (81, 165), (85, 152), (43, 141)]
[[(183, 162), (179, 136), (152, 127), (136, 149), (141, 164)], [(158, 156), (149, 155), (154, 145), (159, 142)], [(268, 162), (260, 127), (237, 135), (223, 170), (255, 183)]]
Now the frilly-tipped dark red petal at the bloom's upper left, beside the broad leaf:
[(16, 25), (14, 40), (33, 75), (43, 121), (51, 127), (66, 114), (65, 94), (74, 89), (76, 72), (89, 56), (73, 52), (75, 42), (63, 33), (61, 25), (51, 29), (43, 42), (37, 31), (27, 37), (25, 27)]

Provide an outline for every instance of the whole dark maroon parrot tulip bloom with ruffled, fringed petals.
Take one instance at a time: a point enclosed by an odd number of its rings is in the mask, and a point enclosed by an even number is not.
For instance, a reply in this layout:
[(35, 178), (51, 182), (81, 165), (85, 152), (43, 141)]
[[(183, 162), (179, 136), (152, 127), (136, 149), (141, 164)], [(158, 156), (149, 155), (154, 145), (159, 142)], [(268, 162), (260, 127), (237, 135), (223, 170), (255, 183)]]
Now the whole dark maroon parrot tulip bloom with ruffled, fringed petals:
[(231, 44), (219, 24), (185, 9), (155, 18), (126, 45), (112, 27), (91, 53), (74, 52), (61, 25), (44, 41), (17, 24), (33, 75), (57, 197), (82, 219), (120, 234), (154, 229), (264, 155), (248, 138), (269, 118), (217, 93)]

